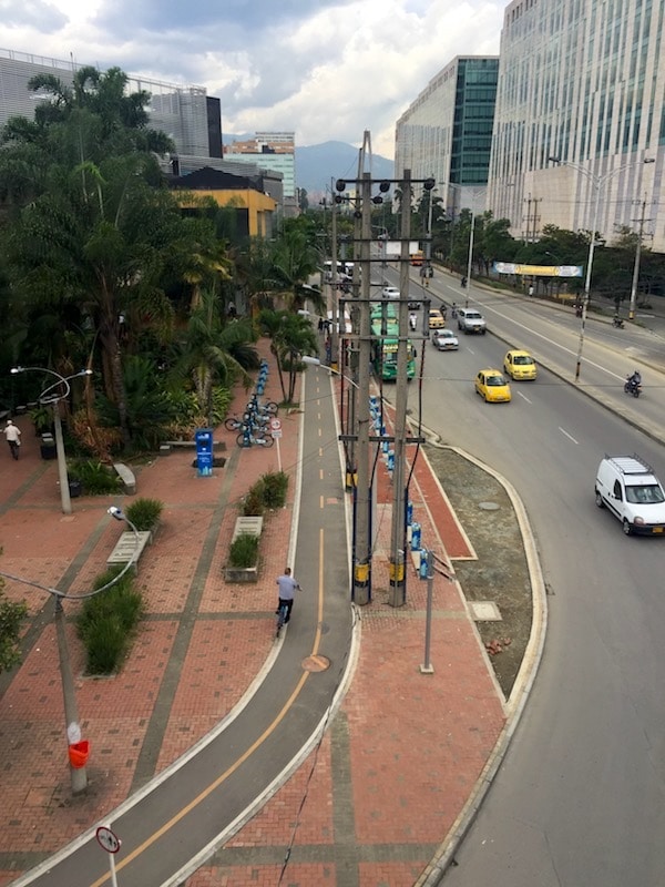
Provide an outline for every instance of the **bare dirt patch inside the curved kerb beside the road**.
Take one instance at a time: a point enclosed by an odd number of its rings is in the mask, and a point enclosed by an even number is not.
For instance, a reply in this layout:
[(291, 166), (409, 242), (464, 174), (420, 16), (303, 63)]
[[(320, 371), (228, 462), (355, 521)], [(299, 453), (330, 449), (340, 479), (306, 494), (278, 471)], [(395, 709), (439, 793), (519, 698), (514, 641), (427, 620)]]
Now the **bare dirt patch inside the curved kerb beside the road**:
[(447, 447), (426, 452), (471, 541), (475, 560), (453, 560), (468, 601), (492, 601), (501, 621), (477, 622), (497, 680), (510, 696), (531, 633), (531, 581), (511, 500), (491, 475)]

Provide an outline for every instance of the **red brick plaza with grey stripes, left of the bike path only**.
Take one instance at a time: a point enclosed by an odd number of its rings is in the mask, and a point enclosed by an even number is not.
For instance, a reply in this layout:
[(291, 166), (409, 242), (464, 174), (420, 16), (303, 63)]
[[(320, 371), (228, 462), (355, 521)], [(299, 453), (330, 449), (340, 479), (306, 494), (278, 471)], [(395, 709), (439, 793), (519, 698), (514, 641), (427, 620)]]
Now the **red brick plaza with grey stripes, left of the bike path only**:
[[(262, 350), (269, 355), (267, 343)], [(280, 400), (270, 368), (265, 397)], [(247, 392), (237, 395), (243, 411)], [(198, 478), (193, 450), (174, 450), (136, 470), (137, 496), (164, 502), (163, 526), (141, 559), (145, 618), (116, 677), (83, 676), (83, 651), (71, 623), (79, 604), (65, 601), (68, 641), (83, 736), (90, 740), (90, 788), (70, 796), (66, 738), (53, 605), (48, 595), (7, 581), (9, 599), (25, 599), (33, 624), (20, 670), (0, 683), (0, 885), (31, 868), (131, 792), (171, 764), (224, 717), (262, 669), (274, 640), (275, 573), (288, 550), (297, 414), (283, 415), (280, 457), (289, 502), (269, 516), (262, 534), (265, 563), (256, 585), (222, 578), (242, 498), (258, 477), (277, 470), (277, 449), (241, 450), (223, 427), (227, 462)], [(2, 570), (48, 587), (82, 592), (105, 569), (122, 526), (106, 508), (123, 497), (82, 497), (63, 516), (54, 461), (40, 458), (27, 419), (21, 460), (0, 463)], [(47, 599), (47, 600), (44, 600)]]

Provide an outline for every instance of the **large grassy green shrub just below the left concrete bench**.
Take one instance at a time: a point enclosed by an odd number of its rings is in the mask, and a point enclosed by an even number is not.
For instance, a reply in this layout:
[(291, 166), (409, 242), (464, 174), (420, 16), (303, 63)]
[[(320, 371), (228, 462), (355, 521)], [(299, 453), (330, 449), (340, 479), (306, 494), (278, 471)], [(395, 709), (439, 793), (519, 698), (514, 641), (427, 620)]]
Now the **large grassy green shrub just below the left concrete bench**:
[[(111, 582), (122, 567), (113, 567), (98, 577), (94, 588)], [(76, 616), (76, 631), (85, 646), (86, 672), (111, 674), (119, 671), (136, 625), (143, 613), (143, 599), (127, 571), (106, 591), (88, 598)]]

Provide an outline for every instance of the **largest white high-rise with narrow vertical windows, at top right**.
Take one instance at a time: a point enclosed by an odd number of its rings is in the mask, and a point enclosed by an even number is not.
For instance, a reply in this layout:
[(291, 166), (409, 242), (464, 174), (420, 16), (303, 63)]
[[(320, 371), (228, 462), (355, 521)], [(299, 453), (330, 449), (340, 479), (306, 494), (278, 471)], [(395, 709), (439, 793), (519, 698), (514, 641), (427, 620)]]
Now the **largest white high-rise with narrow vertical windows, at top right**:
[(665, 0), (507, 7), (488, 207), (513, 236), (591, 231), (595, 218), (611, 241), (638, 230), (645, 202), (644, 231), (665, 251), (664, 29)]

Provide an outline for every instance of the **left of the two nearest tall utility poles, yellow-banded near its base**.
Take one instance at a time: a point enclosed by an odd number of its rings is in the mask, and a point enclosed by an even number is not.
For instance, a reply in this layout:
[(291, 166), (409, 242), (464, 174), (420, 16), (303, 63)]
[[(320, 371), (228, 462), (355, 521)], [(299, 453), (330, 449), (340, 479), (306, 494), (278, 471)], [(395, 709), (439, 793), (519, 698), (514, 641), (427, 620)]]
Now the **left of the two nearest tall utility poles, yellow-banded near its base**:
[[(354, 601), (359, 605), (369, 603), (371, 597), (371, 544), (369, 538), (369, 378), (371, 358), (371, 318), (369, 290), (371, 277), (371, 174), (362, 173), (361, 181), (361, 232), (359, 323), (358, 323), (358, 446), (356, 459), (356, 562), (354, 564)], [(406, 303), (405, 303), (406, 305)], [(406, 376), (406, 373), (405, 373)]]

